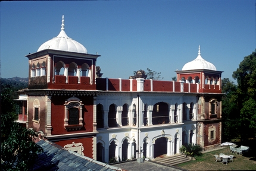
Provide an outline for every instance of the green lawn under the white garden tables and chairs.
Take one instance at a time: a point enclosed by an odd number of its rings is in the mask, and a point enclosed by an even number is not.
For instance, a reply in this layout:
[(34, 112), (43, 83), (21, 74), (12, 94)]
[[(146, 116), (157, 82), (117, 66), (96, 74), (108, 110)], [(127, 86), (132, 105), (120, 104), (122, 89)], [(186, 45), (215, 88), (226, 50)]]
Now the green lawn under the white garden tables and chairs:
[[(215, 162), (214, 154), (219, 153), (233, 155), (233, 162), (227, 163), (227, 165), (220, 162)], [(203, 153), (202, 156), (197, 156), (196, 160), (177, 164), (176, 167), (186, 170), (256, 170), (255, 156), (255, 153), (251, 153), (251, 155), (246, 156), (241, 154), (233, 154), (229, 152), (229, 147), (224, 147), (220, 150)]]

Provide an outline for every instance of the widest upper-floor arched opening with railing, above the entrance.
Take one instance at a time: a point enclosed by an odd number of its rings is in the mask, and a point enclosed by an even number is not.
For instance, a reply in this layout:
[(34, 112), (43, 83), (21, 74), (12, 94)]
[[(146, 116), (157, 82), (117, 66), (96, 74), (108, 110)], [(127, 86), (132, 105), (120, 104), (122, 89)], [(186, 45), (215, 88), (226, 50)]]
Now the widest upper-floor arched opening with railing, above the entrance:
[(152, 124), (168, 124), (169, 123), (169, 110), (167, 103), (156, 103), (152, 112)]

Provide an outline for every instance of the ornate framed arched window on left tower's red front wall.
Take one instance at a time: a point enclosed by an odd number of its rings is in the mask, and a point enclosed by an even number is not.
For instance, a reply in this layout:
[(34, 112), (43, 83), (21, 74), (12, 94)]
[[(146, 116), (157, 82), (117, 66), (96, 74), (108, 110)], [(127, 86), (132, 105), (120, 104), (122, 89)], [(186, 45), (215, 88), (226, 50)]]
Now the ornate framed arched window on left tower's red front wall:
[(70, 97), (65, 101), (65, 119), (64, 119), (64, 128), (73, 129), (73, 128), (82, 128), (83, 126), (83, 104), (76, 97)]

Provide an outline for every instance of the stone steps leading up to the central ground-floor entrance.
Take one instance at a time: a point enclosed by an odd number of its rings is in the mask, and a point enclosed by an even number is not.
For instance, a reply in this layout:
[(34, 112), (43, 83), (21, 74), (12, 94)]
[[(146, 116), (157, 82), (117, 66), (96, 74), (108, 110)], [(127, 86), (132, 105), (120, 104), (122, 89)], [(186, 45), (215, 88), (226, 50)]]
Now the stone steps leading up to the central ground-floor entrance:
[(156, 157), (152, 162), (163, 164), (165, 166), (174, 166), (176, 164), (189, 162), (191, 159), (183, 154), (175, 154), (173, 156), (166, 156), (166, 154)]

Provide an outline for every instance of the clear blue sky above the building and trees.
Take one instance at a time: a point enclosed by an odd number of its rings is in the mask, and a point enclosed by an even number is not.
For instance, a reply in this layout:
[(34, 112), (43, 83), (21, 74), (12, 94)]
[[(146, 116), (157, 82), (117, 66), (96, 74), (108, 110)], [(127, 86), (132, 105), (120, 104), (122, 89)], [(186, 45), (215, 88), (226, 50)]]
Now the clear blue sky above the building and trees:
[(65, 33), (101, 55), (102, 77), (128, 79), (150, 68), (164, 80), (198, 55), (232, 79), (255, 50), (251, 1), (23, 1), (0, 2), (1, 77), (28, 77), (29, 53)]

